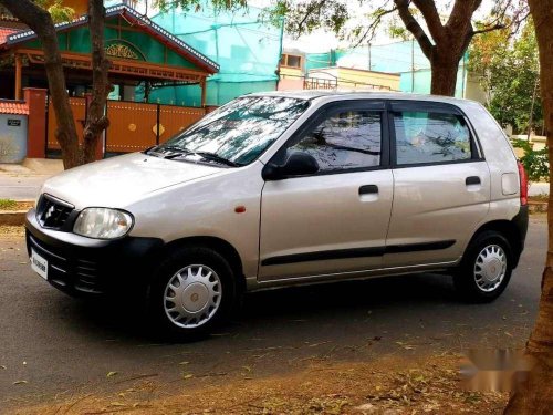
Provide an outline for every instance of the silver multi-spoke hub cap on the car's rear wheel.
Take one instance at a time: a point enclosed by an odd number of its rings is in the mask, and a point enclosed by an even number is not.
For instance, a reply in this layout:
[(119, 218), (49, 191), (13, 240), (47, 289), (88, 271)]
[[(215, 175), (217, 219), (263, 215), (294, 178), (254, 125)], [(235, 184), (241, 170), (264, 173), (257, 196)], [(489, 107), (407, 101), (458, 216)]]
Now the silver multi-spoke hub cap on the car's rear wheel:
[(491, 292), (495, 290), (507, 273), (507, 256), (498, 245), (490, 245), (482, 249), (474, 263), (474, 280), (480, 290)]

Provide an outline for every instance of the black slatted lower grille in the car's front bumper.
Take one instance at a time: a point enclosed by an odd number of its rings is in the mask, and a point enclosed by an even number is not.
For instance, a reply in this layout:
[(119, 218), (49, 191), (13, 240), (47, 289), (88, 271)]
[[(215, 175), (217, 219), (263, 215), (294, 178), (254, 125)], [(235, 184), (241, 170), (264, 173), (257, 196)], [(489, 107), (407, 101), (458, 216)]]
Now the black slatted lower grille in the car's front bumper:
[(33, 249), (48, 260), (48, 279), (52, 284), (69, 291), (103, 292), (101, 266), (93, 258), (75, 258), (74, 255), (39, 241), (29, 231), (27, 239), (29, 250)]

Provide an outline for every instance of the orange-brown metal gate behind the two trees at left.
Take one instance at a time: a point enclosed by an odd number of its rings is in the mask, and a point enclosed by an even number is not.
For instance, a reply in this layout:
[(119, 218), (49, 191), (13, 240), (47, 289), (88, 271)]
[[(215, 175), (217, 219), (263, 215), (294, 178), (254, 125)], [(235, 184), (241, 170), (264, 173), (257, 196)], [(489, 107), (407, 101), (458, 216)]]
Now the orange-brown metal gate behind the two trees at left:
[[(70, 104), (79, 135), (83, 139), (86, 100), (72, 97)], [(105, 131), (104, 153), (131, 153), (165, 143), (179, 131), (200, 120), (211, 108), (139, 102), (107, 101), (109, 127)], [(55, 138), (56, 122), (52, 103), (48, 105), (46, 154), (60, 149)]]

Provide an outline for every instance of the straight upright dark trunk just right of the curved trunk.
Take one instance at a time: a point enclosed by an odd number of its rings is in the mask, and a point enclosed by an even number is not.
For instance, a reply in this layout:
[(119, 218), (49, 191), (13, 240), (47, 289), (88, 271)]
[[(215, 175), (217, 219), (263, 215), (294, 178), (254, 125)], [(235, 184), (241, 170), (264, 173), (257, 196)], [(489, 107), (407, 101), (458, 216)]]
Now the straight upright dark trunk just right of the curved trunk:
[(104, 50), (105, 8), (103, 0), (88, 1), (88, 28), (92, 50), (92, 100), (86, 114), (81, 164), (94, 162), (102, 133), (109, 125), (104, 115), (107, 95), (112, 89), (107, 72), (109, 61)]

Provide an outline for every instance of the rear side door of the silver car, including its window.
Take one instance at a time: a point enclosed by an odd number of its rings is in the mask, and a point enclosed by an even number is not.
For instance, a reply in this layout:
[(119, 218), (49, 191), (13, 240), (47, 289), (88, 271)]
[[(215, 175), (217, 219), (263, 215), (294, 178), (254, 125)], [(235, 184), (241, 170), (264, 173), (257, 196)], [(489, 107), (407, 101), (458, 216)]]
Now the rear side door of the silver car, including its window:
[(394, 207), (385, 267), (451, 262), (487, 216), (490, 172), (450, 104), (390, 103)]

